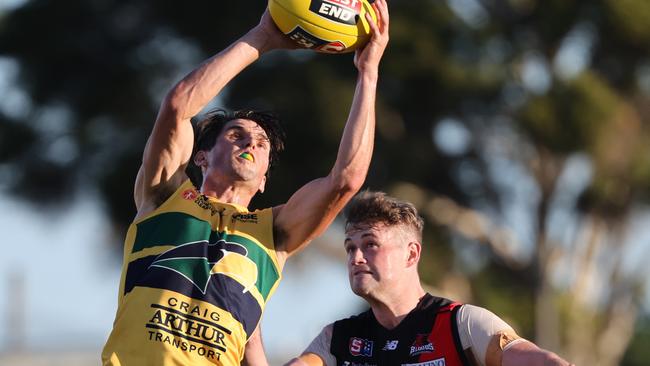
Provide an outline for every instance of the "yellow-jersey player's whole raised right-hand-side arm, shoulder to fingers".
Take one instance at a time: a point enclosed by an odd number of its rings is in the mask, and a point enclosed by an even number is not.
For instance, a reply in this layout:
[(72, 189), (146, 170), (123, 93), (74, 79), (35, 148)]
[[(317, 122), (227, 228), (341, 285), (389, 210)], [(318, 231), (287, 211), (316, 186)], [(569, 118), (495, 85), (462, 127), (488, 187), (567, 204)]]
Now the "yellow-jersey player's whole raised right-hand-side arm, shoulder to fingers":
[(386, 0), (375, 1), (373, 7), (378, 22), (374, 24), (370, 15), (366, 16), (373, 34), (355, 55), (359, 74), (336, 163), (329, 175), (308, 183), (286, 204), (275, 208), (279, 254), (294, 253), (320, 235), (366, 179), (374, 144), (378, 68), (388, 44), (389, 28)]

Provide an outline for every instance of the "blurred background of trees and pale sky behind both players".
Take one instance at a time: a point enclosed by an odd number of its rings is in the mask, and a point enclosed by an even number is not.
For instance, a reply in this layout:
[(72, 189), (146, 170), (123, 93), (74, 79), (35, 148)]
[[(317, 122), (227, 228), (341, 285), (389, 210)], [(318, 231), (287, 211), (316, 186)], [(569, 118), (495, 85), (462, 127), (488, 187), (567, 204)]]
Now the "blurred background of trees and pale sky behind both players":
[[(93, 365), (166, 90), (264, 1), (0, 0), (0, 364)], [(434, 294), (579, 365), (650, 363), (650, 1), (391, 0), (366, 186), (416, 204)], [(351, 55), (275, 51), (214, 102), (277, 111), (284, 202), (331, 168)], [(340, 222), (290, 261), (272, 365), (363, 310)]]

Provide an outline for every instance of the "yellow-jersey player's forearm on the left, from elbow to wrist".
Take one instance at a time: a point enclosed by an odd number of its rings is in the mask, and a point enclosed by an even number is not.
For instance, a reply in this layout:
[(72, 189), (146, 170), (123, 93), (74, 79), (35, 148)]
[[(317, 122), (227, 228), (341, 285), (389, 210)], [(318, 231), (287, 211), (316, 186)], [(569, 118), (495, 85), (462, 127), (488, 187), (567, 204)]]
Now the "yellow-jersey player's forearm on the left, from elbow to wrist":
[(192, 118), (266, 50), (265, 35), (250, 31), (178, 82), (167, 94), (163, 107), (173, 111), (179, 120)]

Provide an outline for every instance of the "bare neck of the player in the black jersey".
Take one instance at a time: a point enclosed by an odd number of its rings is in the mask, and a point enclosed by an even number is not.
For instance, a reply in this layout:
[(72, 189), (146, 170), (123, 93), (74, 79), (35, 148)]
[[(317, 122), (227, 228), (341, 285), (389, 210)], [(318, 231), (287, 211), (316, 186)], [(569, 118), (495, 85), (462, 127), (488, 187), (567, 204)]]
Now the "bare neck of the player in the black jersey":
[[(413, 283), (413, 282), (411, 282)], [(420, 282), (417, 286), (400, 286), (402, 291), (394, 292), (382, 299), (366, 299), (375, 318), (386, 329), (393, 329), (417, 306), (425, 292)]]

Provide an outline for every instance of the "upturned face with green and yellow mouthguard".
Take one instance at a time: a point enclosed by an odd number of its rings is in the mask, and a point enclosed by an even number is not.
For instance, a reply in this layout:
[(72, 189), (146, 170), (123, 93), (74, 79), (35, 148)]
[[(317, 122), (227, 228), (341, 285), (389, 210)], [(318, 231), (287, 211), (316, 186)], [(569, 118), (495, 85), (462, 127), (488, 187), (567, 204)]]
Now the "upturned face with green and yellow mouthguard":
[(210, 170), (218, 171), (233, 180), (258, 184), (269, 168), (270, 149), (269, 138), (257, 123), (247, 119), (229, 121), (206, 153), (206, 173), (210, 176)]

